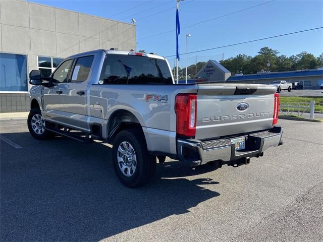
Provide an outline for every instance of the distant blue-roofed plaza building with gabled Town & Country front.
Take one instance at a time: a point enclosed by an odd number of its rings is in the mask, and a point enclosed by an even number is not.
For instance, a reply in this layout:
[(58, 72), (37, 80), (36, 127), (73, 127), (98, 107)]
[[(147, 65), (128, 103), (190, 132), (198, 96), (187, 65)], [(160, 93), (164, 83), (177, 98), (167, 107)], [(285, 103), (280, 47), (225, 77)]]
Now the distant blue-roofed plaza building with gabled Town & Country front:
[[(323, 84), (323, 68), (312, 70), (298, 70), (289, 72), (265, 72), (257, 74), (236, 74), (223, 67), (217, 61), (209, 60), (190, 82), (204, 83), (253, 83), (270, 84), (273, 81), (298, 82), (305, 89), (318, 89)], [(189, 82), (189, 83), (190, 83)]]

